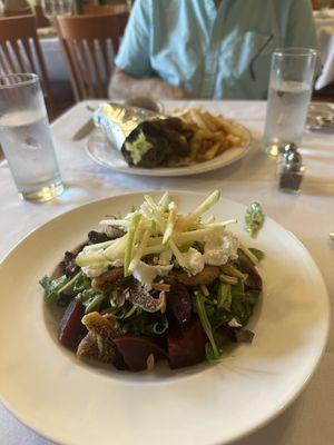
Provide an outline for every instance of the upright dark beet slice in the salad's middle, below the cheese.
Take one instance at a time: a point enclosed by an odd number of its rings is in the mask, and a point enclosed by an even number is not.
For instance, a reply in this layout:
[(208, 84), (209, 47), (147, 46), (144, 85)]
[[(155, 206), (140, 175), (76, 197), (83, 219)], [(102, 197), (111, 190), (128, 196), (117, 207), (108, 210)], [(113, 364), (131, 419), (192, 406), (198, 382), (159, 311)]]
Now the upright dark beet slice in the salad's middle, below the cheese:
[(167, 317), (179, 326), (185, 326), (191, 318), (191, 297), (185, 285), (175, 283), (166, 294)]

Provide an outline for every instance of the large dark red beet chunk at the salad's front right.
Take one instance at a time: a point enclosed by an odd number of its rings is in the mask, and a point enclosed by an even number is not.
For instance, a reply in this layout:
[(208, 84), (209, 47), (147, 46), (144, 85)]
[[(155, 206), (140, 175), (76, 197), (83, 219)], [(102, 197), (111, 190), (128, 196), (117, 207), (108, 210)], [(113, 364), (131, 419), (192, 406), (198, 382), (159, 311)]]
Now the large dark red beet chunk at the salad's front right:
[(196, 365), (205, 358), (207, 337), (198, 318), (168, 334), (168, 362), (171, 369)]

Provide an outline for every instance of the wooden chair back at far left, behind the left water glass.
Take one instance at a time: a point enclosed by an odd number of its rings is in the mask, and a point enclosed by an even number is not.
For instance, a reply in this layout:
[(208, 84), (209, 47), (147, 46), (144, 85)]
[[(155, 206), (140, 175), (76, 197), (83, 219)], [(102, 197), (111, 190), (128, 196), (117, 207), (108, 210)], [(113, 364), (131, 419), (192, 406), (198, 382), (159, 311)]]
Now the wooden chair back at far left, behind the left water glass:
[(52, 102), (35, 16), (0, 18), (0, 71), (39, 73), (45, 97)]

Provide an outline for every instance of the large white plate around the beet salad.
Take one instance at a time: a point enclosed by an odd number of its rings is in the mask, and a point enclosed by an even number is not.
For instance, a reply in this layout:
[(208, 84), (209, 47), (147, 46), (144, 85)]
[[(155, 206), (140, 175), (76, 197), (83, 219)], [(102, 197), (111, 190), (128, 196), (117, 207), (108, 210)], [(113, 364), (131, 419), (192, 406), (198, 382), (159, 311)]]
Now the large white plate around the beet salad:
[[(154, 196), (160, 195), (153, 192)], [(203, 195), (173, 192), (187, 211)], [(80, 362), (57, 342), (38, 279), (86, 239), (106, 214), (125, 214), (141, 194), (94, 201), (41, 226), (0, 267), (0, 394), (24, 424), (70, 445), (226, 444), (279, 414), (304, 388), (324, 350), (328, 296), (305, 247), (269, 218), (256, 239), (243, 229), (245, 207), (222, 199), (218, 219), (263, 249), (264, 295), (239, 344), (219, 365), (128, 373)]]

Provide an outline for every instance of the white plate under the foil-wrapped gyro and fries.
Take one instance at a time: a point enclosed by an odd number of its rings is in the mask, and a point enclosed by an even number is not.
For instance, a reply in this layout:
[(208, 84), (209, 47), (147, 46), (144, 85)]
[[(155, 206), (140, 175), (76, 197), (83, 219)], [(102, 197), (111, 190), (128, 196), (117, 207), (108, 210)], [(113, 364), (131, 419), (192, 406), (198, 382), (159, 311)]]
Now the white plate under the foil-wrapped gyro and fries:
[(193, 164), (180, 167), (159, 167), (159, 168), (139, 168), (130, 167), (124, 159), (121, 152), (108, 141), (107, 137), (100, 129), (95, 129), (86, 145), (88, 155), (92, 160), (110, 168), (111, 170), (122, 171), (130, 175), (139, 176), (190, 176), (204, 174), (206, 171), (216, 170), (233, 164), (243, 158), (250, 148), (252, 136), (247, 128), (239, 123), (234, 125), (240, 131), (243, 144), (239, 147), (233, 147), (223, 154), (216, 156), (212, 160), (205, 162)]

